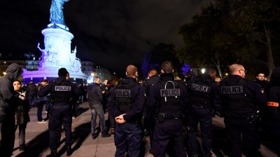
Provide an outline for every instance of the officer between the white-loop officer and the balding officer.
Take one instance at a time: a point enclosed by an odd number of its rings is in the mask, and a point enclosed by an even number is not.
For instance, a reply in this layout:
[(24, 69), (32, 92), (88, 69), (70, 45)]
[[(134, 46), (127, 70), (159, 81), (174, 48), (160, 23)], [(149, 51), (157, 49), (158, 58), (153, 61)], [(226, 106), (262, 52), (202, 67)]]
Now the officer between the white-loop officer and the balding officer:
[(219, 87), (215, 83), (216, 70), (207, 68), (206, 72), (188, 82), (189, 98), (189, 140), (190, 156), (197, 156), (197, 125), (200, 123), (202, 137), (202, 154), (211, 155), (212, 116), (211, 108), (221, 110)]

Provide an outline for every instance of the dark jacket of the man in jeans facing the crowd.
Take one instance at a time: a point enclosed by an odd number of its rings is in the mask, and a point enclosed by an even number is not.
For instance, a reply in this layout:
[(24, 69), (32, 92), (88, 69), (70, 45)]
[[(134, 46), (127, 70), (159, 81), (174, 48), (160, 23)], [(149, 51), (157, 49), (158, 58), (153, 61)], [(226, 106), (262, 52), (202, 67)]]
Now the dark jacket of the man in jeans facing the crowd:
[(93, 82), (90, 85), (88, 85), (87, 100), (88, 103), (90, 103), (90, 107), (93, 107), (93, 105), (101, 104), (102, 91), (99, 84)]

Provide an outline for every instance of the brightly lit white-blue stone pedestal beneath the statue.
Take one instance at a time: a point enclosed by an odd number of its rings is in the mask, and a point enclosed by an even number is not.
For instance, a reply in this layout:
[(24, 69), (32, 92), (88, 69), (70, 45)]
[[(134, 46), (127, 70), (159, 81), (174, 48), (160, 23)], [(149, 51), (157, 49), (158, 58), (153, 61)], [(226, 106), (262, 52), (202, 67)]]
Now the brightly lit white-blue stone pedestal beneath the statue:
[(62, 29), (55, 24), (43, 29), (45, 50), (38, 47), (42, 52), (40, 66), (36, 71), (24, 70), (22, 74), (24, 80), (34, 80), (34, 78), (40, 78), (39, 81), (42, 78), (54, 80), (58, 77), (59, 68), (66, 68), (73, 81), (87, 80), (87, 76), (80, 69), (80, 60), (76, 58), (76, 49), (71, 52), (73, 34), (67, 29)]

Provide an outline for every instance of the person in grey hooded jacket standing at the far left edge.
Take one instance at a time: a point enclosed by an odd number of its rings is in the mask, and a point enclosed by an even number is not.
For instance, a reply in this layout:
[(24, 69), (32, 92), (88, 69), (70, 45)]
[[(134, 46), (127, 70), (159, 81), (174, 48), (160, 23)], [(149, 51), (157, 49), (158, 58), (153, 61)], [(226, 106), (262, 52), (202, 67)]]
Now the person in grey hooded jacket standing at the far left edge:
[(13, 82), (22, 75), (22, 68), (11, 63), (6, 75), (0, 78), (0, 155), (11, 156), (15, 143), (15, 109), (20, 94), (13, 88)]

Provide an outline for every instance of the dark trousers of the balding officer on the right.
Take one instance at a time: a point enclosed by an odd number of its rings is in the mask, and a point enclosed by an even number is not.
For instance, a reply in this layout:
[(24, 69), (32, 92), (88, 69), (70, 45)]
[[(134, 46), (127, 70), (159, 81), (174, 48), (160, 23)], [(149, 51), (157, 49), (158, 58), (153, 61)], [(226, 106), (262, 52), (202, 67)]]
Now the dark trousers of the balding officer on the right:
[(257, 124), (249, 124), (248, 119), (225, 117), (225, 130), (227, 132), (231, 157), (241, 157), (241, 140), (244, 142), (244, 153), (247, 157), (259, 155), (260, 139)]

